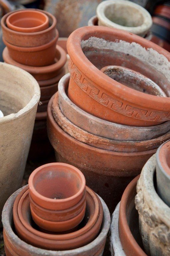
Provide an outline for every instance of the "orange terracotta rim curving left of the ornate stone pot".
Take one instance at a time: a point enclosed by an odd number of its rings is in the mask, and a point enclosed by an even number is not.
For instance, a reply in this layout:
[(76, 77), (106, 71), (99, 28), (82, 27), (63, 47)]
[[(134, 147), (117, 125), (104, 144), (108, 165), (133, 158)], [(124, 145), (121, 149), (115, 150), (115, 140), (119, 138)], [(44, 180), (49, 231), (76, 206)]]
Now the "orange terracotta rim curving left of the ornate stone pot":
[[(126, 218), (126, 209), (127, 209), (128, 199), (131, 197), (131, 191), (136, 187), (139, 177), (140, 177), (140, 174), (128, 184), (128, 186), (123, 192), (122, 198), (120, 200), (118, 228), (119, 228), (119, 233), (121, 230), (123, 233), (123, 236), (127, 236), (129, 238), (128, 241), (130, 242), (130, 245), (128, 245), (128, 248), (126, 248), (126, 245), (125, 246), (122, 245), (125, 253), (126, 251), (129, 251), (129, 246), (130, 246), (131, 248), (135, 248), (135, 255), (147, 256), (147, 254), (145, 254), (145, 252), (141, 249), (141, 247), (138, 245), (135, 238), (133, 237), (129, 229), (129, 225)], [(135, 205), (135, 201), (134, 201), (134, 205)], [(120, 238), (120, 241), (121, 241), (121, 238)], [(121, 241), (121, 244), (122, 244), (122, 241)]]

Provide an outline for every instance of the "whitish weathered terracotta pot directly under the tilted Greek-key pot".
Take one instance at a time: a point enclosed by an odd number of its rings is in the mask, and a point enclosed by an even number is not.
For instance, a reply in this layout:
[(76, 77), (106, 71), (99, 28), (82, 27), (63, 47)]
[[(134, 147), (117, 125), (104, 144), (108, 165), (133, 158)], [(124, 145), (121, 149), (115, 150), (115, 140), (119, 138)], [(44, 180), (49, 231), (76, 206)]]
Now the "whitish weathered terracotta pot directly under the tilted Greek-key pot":
[(68, 98), (66, 92), (70, 74), (65, 75), (59, 81), (58, 95), (59, 107), (62, 114), (81, 129), (94, 135), (114, 139), (119, 141), (142, 141), (154, 139), (168, 132), (170, 129), (170, 121), (148, 127), (125, 126), (117, 123), (111, 123), (92, 116), (81, 110)]

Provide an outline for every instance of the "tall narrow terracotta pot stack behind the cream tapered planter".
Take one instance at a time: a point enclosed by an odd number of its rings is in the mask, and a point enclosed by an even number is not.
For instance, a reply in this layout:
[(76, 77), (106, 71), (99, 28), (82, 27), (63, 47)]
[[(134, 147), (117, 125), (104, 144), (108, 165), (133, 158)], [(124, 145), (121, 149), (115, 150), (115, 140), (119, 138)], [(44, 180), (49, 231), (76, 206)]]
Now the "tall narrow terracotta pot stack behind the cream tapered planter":
[(38, 81), (41, 98), (34, 127), (31, 156), (50, 154), (46, 132), (47, 104), (65, 74), (66, 53), (56, 45), (56, 18), (46, 11), (26, 9), (6, 14), (1, 20), (5, 62), (18, 66)]

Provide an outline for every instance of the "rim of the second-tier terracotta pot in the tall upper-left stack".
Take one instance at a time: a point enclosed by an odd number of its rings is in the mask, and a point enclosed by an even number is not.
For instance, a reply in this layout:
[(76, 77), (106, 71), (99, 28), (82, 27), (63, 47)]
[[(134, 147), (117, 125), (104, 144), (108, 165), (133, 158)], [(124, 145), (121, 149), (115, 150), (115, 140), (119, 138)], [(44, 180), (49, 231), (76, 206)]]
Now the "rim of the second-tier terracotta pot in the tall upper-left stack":
[(23, 47), (23, 46), (16, 46), (14, 44), (8, 43), (4, 37), (2, 37), (3, 42), (8, 48), (11, 48), (14, 51), (19, 51), (19, 52), (38, 52), (45, 50), (51, 46), (53, 46), (54, 43), (57, 42), (57, 39), (59, 37), (59, 32), (56, 29), (56, 36), (48, 43), (40, 45), (40, 46), (33, 46), (33, 47)]

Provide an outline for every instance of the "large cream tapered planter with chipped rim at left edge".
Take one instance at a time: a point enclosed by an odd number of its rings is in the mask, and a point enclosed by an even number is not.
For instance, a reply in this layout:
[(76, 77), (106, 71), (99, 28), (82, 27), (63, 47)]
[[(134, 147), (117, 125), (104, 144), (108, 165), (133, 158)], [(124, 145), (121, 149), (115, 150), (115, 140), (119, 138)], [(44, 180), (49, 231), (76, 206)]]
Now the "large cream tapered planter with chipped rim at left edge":
[[(22, 182), (40, 99), (37, 81), (26, 71), (0, 62), (0, 214)], [(0, 224), (1, 225), (1, 224)]]

